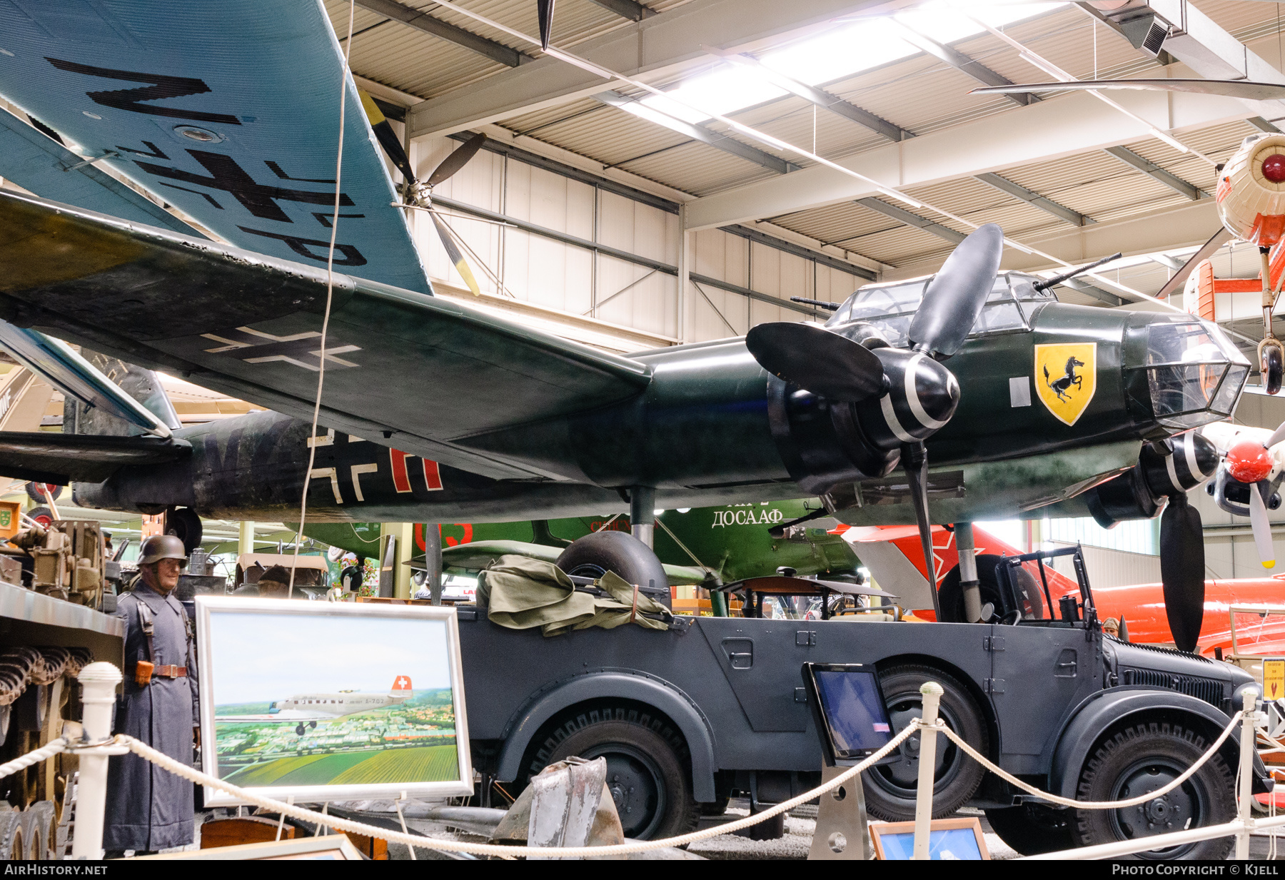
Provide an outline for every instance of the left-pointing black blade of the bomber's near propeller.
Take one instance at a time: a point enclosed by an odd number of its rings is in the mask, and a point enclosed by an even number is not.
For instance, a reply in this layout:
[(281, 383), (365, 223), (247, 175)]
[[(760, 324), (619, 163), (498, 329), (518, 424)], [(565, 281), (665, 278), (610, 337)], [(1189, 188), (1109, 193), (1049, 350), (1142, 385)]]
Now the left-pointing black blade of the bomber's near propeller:
[(774, 376), (833, 401), (884, 392), (883, 364), (869, 348), (815, 324), (759, 324), (745, 334), (745, 347)]

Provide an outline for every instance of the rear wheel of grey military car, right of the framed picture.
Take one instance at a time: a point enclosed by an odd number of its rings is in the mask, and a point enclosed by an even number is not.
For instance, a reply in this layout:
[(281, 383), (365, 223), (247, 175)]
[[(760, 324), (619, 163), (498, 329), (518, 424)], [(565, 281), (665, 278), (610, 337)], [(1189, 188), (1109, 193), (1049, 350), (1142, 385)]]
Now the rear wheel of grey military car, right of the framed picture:
[(646, 707), (603, 703), (555, 722), (528, 764), (528, 779), (578, 755), (607, 759), (607, 788), (626, 838), (657, 840), (686, 834), (700, 820), (693, 796), (686, 740)]

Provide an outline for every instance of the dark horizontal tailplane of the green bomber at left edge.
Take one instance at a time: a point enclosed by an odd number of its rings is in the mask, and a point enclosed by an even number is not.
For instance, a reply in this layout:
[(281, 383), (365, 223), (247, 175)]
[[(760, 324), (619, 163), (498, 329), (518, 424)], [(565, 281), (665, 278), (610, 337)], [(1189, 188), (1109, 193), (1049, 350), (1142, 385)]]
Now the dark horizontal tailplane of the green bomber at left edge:
[(0, 432), (0, 475), (57, 486), (102, 483), (126, 465), (163, 464), (190, 452), (175, 438)]

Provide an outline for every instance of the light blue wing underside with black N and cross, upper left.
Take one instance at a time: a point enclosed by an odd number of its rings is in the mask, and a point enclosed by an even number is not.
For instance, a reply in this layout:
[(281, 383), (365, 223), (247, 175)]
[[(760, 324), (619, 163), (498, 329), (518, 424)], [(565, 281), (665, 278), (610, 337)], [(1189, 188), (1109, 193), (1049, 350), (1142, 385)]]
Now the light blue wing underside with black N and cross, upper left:
[[(335, 266), (427, 293), (410, 227), (317, 0), (4, 4), (0, 95), (236, 247), (326, 265), (341, 82), (347, 90)], [(342, 77), (342, 78), (341, 78)], [(24, 134), (24, 132), (22, 132)], [(21, 139), (19, 139), (21, 140)], [(137, 220), (116, 200), (76, 198), (41, 172), (45, 198)], [(48, 146), (42, 145), (48, 153)], [(66, 158), (66, 157), (64, 157)], [(37, 168), (39, 171), (39, 168)], [(62, 173), (62, 172), (57, 172)], [(171, 227), (168, 221), (144, 221)]]

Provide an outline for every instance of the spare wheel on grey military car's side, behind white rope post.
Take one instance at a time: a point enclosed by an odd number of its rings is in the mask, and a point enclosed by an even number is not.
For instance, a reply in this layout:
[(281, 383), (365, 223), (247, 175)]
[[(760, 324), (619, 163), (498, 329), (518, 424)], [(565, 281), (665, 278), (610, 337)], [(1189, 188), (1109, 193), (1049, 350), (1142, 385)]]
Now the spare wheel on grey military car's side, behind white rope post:
[[(911, 718), (923, 714), (919, 687), (928, 681), (942, 686), (938, 716), (982, 754), (989, 753), (989, 732), (982, 709), (953, 676), (928, 665), (906, 664), (880, 669), (892, 732), (897, 734)], [(894, 753), (898, 754), (898, 753)], [(969, 758), (946, 736), (937, 737), (938, 768), (933, 785), (933, 816), (950, 816), (968, 803), (982, 785), (984, 768)], [(866, 812), (888, 822), (915, 818), (915, 794), (919, 785), (919, 736), (901, 745), (900, 759), (892, 764), (871, 767), (861, 775), (866, 791)]]

